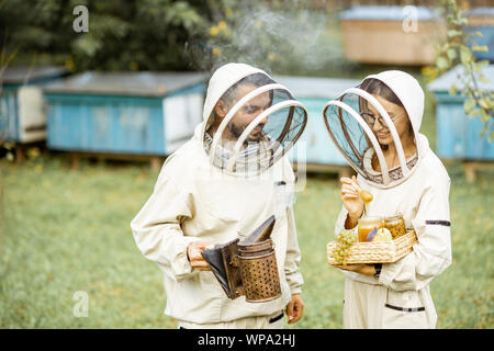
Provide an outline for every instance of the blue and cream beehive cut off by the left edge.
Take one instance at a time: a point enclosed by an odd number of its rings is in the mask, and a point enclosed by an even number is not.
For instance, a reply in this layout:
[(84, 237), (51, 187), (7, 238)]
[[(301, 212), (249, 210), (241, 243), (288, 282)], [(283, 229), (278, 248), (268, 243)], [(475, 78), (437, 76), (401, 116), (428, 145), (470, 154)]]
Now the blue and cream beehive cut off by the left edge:
[(46, 137), (41, 86), (68, 73), (64, 67), (11, 67), (2, 76), (0, 141), (31, 143)]

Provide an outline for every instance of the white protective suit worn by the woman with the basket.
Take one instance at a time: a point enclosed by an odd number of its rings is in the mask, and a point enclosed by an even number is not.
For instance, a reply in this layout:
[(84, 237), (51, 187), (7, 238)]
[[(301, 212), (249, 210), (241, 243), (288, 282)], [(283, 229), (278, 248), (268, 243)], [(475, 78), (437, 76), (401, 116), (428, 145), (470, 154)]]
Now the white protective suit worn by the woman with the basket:
[[(372, 147), (367, 148), (359, 165), (351, 161), (358, 157), (346, 157), (358, 171), (360, 186), (373, 195), (368, 215), (403, 214), (406, 227), (416, 231), (418, 244), (403, 259), (383, 263), (379, 278), (341, 270), (346, 275), (344, 328), (435, 328), (437, 314), (429, 283), (451, 263), (450, 179), (426, 136), (418, 133), (424, 112), (424, 92), (418, 82), (402, 71), (367, 78), (381, 80), (401, 100), (412, 122), (417, 154), (406, 160), (407, 170), (401, 166), (390, 170), (388, 184), (371, 167)], [(335, 235), (344, 229), (347, 214), (343, 206)]]

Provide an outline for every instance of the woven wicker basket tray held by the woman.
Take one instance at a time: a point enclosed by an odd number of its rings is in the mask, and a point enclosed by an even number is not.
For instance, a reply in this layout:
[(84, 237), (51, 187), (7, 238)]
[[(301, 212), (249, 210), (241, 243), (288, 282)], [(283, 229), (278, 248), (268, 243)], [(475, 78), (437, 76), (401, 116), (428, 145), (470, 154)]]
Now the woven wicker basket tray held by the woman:
[[(414, 230), (408, 230), (404, 236), (391, 241), (355, 242), (350, 246), (350, 254), (347, 257), (347, 263), (396, 262), (411, 252), (416, 242), (417, 236)], [(336, 245), (336, 241), (327, 244), (327, 261), (329, 264), (336, 264), (336, 260), (332, 254)]]

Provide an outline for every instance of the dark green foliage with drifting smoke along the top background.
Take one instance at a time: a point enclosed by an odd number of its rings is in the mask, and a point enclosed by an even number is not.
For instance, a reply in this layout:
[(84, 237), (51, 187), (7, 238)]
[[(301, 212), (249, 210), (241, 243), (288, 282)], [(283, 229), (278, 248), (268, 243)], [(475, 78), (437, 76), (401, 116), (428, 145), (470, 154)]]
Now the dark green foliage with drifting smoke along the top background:
[[(232, 60), (277, 73), (351, 68), (335, 31), (340, 9), (314, 3), (0, 0), (0, 48), (16, 53), (11, 66), (61, 65), (74, 72), (210, 70)], [(88, 9), (88, 33), (72, 29), (77, 5)]]

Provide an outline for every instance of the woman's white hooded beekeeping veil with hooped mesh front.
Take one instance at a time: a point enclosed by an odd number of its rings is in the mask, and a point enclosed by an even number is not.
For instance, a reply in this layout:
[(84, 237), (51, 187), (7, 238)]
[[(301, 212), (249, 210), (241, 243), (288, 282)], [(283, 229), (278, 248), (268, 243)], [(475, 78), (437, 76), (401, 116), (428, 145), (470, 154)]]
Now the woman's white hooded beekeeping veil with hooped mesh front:
[[(416, 145), (417, 154), (405, 159), (402, 141), (390, 115), (372, 94), (361, 89), (366, 86), (366, 80), (371, 78), (382, 81), (401, 101), (417, 143), (424, 113), (424, 91), (415, 78), (400, 70), (368, 76), (358, 87), (344, 91), (338, 99), (324, 106), (324, 122), (332, 140), (350, 166), (373, 185), (389, 188), (397, 185), (412, 174), (420, 155)], [(380, 121), (383, 121), (383, 126), (388, 127), (393, 138), (400, 160), (400, 166), (394, 169), (389, 169), (378, 138), (362, 117), (369, 112), (369, 105), (378, 111), (382, 117)], [(379, 161), (379, 172), (372, 167), (373, 157)]]

